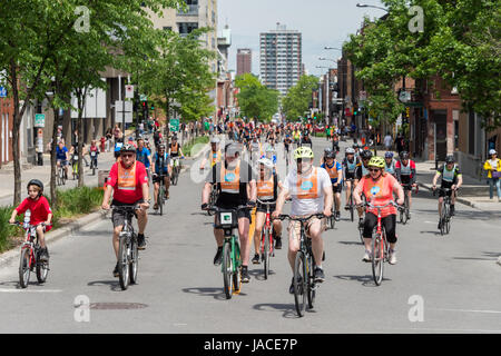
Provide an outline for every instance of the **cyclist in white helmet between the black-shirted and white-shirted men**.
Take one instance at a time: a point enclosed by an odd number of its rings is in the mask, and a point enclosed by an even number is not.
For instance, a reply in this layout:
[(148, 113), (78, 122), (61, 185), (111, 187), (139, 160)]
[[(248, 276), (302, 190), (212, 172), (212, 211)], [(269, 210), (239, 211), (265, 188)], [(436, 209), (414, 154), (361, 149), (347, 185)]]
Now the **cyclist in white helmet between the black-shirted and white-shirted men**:
[[(275, 166), (269, 158), (261, 158), (258, 160), (259, 171), (257, 174), (257, 198), (264, 202), (276, 202), (278, 197), (278, 187), (281, 186), (278, 181), (278, 176), (274, 171)], [(275, 210), (276, 204), (269, 206), (269, 211)], [(256, 227), (254, 230), (254, 248), (255, 255), (253, 258), (253, 264), (259, 264), (259, 251), (261, 251), (261, 235), (263, 231), (263, 226), (265, 225), (267, 207), (257, 202), (256, 209)], [(274, 220), (273, 224), (273, 239), (275, 241), (275, 248), (282, 248), (282, 222), (281, 220)]]

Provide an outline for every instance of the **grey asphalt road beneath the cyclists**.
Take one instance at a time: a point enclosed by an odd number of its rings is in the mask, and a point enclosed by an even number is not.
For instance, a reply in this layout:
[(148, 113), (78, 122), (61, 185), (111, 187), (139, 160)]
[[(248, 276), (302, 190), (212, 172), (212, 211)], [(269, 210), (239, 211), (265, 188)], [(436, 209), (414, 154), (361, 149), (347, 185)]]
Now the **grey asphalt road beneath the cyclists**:
[[(317, 162), (326, 141), (314, 145)], [(50, 244), (45, 285), (18, 289), (18, 259), (0, 266), (0, 333), (501, 333), (494, 215), (458, 205), (451, 234), (440, 236), (436, 198), (421, 190), (411, 221), (397, 226), (399, 263), (385, 265), (377, 287), (362, 261), (356, 222), (342, 211), (324, 234), (326, 280), (315, 308), (298, 318), (286, 238), (269, 279), (250, 264), (250, 283), (225, 299), (220, 268), (213, 266), (213, 218), (200, 211), (200, 196), (202, 182), (188, 170), (170, 191), (167, 215), (149, 215), (139, 284), (126, 291), (111, 275), (110, 220)]]

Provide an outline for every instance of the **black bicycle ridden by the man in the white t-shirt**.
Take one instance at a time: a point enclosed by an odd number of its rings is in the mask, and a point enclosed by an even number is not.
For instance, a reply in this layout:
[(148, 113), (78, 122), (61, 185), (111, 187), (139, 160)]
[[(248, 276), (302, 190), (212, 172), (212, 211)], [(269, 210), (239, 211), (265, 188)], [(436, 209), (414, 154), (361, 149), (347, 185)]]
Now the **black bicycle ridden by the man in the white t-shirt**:
[(305, 218), (293, 218), (289, 215), (281, 215), (279, 220), (289, 219), (292, 221), (301, 222), (301, 241), (299, 250), (296, 254), (294, 261), (294, 303), (297, 315), (304, 316), (306, 308), (306, 300), (310, 309), (313, 309), (317, 284), (314, 279), (315, 259), (313, 258), (312, 239), (306, 237), (304, 222), (307, 222), (312, 217), (323, 219), (323, 214), (312, 214)]

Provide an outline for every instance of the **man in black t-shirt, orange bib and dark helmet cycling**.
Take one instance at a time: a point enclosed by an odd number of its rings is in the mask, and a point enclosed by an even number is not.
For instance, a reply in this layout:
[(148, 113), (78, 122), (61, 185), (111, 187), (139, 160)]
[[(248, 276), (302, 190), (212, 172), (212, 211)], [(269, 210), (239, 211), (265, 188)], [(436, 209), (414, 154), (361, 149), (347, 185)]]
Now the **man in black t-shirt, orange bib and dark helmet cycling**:
[[(247, 162), (240, 160), (242, 147), (238, 144), (228, 144), (225, 147), (225, 159), (216, 164), (202, 191), (202, 209), (208, 208), (209, 195), (213, 184), (217, 184), (219, 196), (215, 206), (222, 209), (235, 209), (238, 206), (256, 206), (256, 180), (253, 170)], [(217, 217), (217, 215), (216, 215)], [(248, 238), (250, 225), (249, 209), (237, 211), (238, 236), (242, 250), (242, 281), (248, 283), (248, 259), (250, 255), (250, 240)], [(214, 265), (220, 265), (223, 256), (224, 230), (214, 229), (217, 243), (217, 251), (214, 257)]]

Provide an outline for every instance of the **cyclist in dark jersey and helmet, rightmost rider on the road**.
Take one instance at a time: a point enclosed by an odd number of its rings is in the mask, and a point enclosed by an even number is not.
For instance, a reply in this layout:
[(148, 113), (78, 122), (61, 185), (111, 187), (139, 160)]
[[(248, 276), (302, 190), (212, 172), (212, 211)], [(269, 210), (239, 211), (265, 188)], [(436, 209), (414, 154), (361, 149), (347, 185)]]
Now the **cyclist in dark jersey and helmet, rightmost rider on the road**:
[[(436, 189), (436, 181), (439, 180), (439, 178), (442, 178), (442, 189), (451, 189), (451, 191), (448, 192), (448, 196), (451, 197), (451, 215), (453, 216), (456, 190), (463, 184), (463, 176), (459, 169), (459, 166), (455, 165), (453, 156), (445, 157), (445, 165), (440, 167), (436, 171), (436, 175), (433, 177), (433, 190)], [(452, 194), (452, 191), (454, 191), (454, 194)], [(439, 192), (439, 216), (442, 216), (443, 197), (445, 197), (445, 192), (441, 190)], [(441, 226), (439, 222), (439, 229), (440, 227)]]

